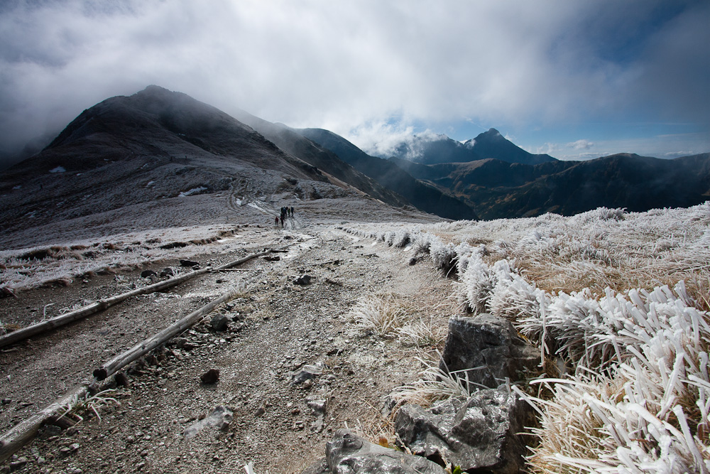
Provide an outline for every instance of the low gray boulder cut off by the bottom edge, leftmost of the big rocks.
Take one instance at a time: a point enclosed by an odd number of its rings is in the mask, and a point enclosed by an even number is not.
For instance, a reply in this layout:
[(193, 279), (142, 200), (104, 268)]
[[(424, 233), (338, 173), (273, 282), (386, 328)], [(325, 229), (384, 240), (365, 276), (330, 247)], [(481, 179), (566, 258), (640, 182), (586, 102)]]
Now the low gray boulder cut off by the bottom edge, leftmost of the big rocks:
[(332, 474), (444, 474), (430, 460), (370, 443), (346, 429), (326, 443), (325, 458), (330, 470), (324, 472)]

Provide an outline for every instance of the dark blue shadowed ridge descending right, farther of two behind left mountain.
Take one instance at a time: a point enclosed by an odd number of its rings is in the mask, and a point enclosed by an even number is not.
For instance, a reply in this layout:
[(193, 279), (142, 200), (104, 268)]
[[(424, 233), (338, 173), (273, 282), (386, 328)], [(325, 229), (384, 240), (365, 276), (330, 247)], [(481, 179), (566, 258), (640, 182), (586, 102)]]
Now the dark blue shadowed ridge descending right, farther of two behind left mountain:
[(396, 193), (403, 195), (415, 208), (454, 220), (476, 220), (476, 212), (463, 201), (434, 186), (422, 183), (409, 173), (383, 158), (369, 156), (342, 136), (323, 129), (298, 129), (307, 139), (315, 141), (350, 163), (362, 173)]

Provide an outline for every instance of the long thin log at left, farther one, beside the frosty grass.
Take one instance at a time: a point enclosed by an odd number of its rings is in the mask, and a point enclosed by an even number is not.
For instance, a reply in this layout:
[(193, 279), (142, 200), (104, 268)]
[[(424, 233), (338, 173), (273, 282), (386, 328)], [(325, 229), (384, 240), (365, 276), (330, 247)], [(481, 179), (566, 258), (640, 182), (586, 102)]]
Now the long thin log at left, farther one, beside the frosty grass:
[(121, 303), (121, 301), (125, 301), (128, 298), (131, 298), (131, 296), (154, 293), (155, 291), (162, 291), (172, 286), (181, 284), (183, 281), (187, 281), (197, 275), (207, 273), (208, 271), (211, 271), (209, 267), (191, 271), (190, 273), (176, 276), (175, 278), (171, 278), (165, 281), (158, 281), (158, 283), (143, 286), (143, 288), (138, 288), (127, 293), (121, 293), (120, 295), (111, 296), (110, 298), (104, 298), (102, 300), (97, 301), (96, 303), (90, 304), (89, 306), (84, 306), (84, 308), (77, 309), (76, 311), (70, 311), (69, 313), (65, 313), (60, 316), (55, 316), (54, 318), (49, 318), (45, 321), (40, 321), (39, 323), (28, 325), (25, 328), (21, 328), (16, 331), (13, 331), (12, 333), (0, 336), (0, 348), (3, 348), (6, 345), (10, 345), (27, 338), (31, 338), (33, 335), (45, 333), (47, 331), (60, 328), (63, 325), (67, 325), (74, 321), (86, 318), (87, 316), (99, 313), (99, 311), (104, 311), (110, 306), (114, 306), (115, 304)]

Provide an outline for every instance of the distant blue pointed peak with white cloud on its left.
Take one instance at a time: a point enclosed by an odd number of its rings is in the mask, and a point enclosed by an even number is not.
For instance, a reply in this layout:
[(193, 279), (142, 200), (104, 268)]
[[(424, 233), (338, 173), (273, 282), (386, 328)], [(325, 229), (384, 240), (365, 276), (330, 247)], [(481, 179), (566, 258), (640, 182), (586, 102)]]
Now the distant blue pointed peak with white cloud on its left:
[[(461, 144), (446, 135), (413, 136), (403, 141), (393, 153), (394, 158), (422, 164), (469, 163), (486, 158), (495, 158), (508, 163), (534, 165), (557, 161), (550, 155), (533, 155), (508, 141), (496, 129), (485, 131), (475, 139)], [(391, 158), (391, 157), (388, 157)]]

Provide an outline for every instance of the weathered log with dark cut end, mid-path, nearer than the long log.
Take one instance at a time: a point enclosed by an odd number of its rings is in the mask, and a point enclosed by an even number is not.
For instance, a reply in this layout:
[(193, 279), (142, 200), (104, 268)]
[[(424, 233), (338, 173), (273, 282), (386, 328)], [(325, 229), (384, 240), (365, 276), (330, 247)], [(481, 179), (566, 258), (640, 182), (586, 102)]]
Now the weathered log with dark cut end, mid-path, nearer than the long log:
[(229, 293), (224, 293), (224, 295), (220, 296), (216, 300), (207, 303), (197, 311), (193, 311), (185, 316), (185, 318), (182, 318), (168, 326), (168, 328), (161, 330), (160, 333), (156, 333), (150, 338), (143, 340), (141, 343), (134, 345), (133, 348), (126, 350), (126, 352), (116, 355), (116, 357), (109, 360), (109, 362), (106, 362), (104, 365), (94, 370), (94, 377), (98, 380), (103, 380), (113, 375), (117, 370), (120, 370), (121, 367), (129, 365), (131, 362), (138, 359), (138, 357), (147, 354), (161, 344), (165, 344), (175, 335), (178, 335), (187, 328), (190, 328), (191, 325), (197, 323), (197, 321), (200, 321), (202, 316), (210, 313), (214, 308), (217, 308), (217, 306), (222, 303), (226, 303), (226, 301), (229, 301), (231, 298), (234, 298), (233, 292), (229, 291)]

